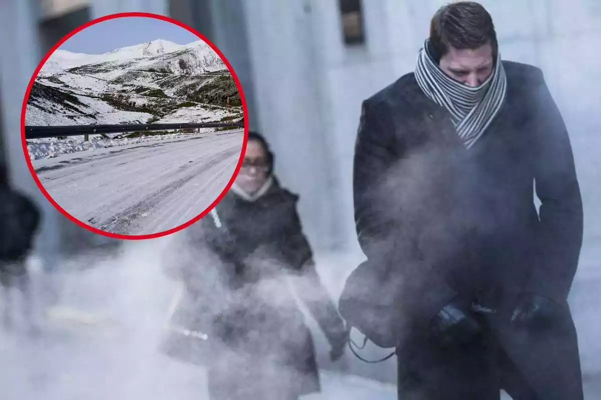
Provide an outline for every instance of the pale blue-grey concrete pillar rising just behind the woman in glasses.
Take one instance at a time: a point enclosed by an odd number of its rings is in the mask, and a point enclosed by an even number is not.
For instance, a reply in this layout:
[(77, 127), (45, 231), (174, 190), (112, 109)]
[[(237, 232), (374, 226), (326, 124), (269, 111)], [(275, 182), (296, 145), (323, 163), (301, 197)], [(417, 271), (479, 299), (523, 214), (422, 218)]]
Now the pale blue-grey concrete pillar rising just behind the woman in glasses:
[(314, 247), (335, 245), (332, 170), (321, 118), (313, 21), (304, 2), (244, 2), (261, 130), (283, 184), (301, 195), (299, 213)]

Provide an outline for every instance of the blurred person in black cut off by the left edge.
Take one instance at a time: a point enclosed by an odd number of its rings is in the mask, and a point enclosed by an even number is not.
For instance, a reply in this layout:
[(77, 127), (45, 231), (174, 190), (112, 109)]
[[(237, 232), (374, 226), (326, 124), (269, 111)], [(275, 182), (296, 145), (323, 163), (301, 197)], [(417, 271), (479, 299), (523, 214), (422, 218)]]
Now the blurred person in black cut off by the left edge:
[(0, 284), (4, 292), (4, 327), (9, 329), (13, 326), (14, 309), (10, 290), (14, 287), (22, 293), (23, 316), (35, 329), (25, 261), (40, 225), (40, 211), (31, 200), (10, 187), (4, 164), (0, 164), (0, 215)]

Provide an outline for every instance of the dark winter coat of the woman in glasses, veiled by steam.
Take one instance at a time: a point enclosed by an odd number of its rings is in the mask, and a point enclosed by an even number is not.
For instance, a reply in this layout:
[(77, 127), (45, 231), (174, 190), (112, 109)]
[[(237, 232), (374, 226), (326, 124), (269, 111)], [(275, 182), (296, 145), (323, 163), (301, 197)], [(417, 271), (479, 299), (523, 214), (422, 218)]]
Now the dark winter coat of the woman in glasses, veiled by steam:
[(186, 231), (197, 251), (186, 285), (192, 297), (204, 299), (199, 312), (210, 315), (201, 328), (224, 350), (215, 359), (230, 350), (247, 357), (209, 365), (212, 399), (267, 398), (278, 386), (286, 396), (319, 391), (313, 339), (288, 286), (290, 277), (331, 344), (346, 338), (343, 321), (314, 269), (297, 199), (275, 179), (255, 201), (230, 191), (215, 207), (216, 215)]

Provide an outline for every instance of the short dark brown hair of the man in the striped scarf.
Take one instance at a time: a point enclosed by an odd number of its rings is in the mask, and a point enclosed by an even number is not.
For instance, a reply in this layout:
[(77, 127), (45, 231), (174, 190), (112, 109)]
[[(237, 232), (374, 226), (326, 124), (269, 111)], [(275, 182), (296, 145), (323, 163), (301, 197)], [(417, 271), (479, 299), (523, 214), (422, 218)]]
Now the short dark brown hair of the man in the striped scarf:
[(430, 22), (430, 45), (438, 59), (449, 47), (475, 50), (490, 43), (493, 58), (498, 42), (495, 25), (486, 9), (474, 1), (458, 1), (439, 8)]

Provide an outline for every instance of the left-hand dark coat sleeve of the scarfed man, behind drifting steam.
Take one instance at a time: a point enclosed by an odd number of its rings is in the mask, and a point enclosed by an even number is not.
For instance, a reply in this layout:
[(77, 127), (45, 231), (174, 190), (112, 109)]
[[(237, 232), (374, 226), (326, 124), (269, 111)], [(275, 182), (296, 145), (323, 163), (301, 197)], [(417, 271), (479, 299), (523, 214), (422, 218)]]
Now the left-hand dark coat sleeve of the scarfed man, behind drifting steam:
[(402, 310), (399, 318), (420, 324), (456, 293), (419, 254), (419, 218), (410, 211), (415, 204), (403, 204), (403, 182), (411, 177), (403, 176), (400, 161), (408, 155), (395, 140), (399, 129), (387, 103), (364, 101), (353, 166), (355, 223), (359, 245), (387, 287), (387, 293), (374, 293), (377, 302), (388, 302)]

